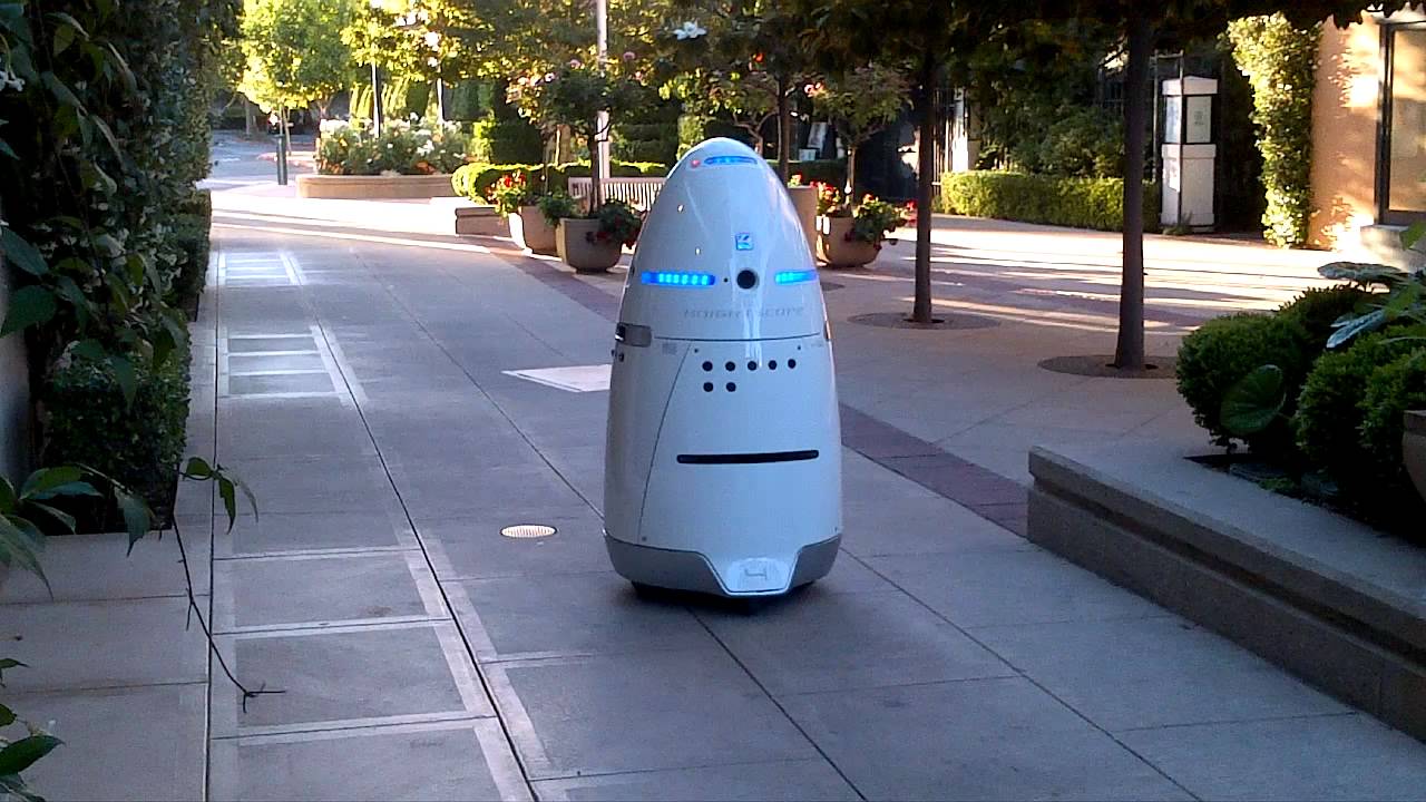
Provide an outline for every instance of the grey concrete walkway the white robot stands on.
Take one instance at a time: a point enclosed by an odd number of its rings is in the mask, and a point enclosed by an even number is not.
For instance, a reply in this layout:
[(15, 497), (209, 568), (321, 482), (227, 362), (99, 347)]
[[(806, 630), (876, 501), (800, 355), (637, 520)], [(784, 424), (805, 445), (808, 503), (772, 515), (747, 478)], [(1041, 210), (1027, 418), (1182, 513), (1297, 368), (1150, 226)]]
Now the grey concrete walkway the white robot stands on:
[[(191, 450), (262, 515), (228, 534), (193, 492), (180, 514), (211, 532), (230, 665), (282, 694), (244, 709), (210, 682), (170, 539), (137, 589), (78, 559), (57, 602), (13, 585), (17, 656), (76, 672), (13, 705), (70, 741), (34, 776), (54, 799), (1426, 798), (1419, 742), (1015, 534), (1030, 442), (1205, 440), (1171, 381), (1037, 367), (1112, 348), (1097, 235), (947, 228), (937, 293), (983, 328), (851, 321), (907, 307), (908, 245), (824, 277), (844, 549), (744, 615), (610, 572), (605, 394), (506, 372), (607, 362), (622, 275), (217, 200)], [(1152, 304), (1158, 354), (1195, 315), (1276, 303), (1188, 267), (1255, 270), (1242, 245), (1184, 245), (1151, 257), (1188, 284)]]

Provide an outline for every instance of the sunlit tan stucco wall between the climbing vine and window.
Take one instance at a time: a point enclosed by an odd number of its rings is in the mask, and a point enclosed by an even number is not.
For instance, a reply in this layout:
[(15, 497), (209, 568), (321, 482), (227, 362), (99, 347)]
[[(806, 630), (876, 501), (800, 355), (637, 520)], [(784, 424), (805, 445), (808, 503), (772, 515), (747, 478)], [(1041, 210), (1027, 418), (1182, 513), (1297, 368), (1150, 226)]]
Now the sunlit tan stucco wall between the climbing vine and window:
[(1380, 29), (1370, 17), (1322, 26), (1312, 96), (1312, 244), (1355, 248), (1376, 220), (1376, 117)]

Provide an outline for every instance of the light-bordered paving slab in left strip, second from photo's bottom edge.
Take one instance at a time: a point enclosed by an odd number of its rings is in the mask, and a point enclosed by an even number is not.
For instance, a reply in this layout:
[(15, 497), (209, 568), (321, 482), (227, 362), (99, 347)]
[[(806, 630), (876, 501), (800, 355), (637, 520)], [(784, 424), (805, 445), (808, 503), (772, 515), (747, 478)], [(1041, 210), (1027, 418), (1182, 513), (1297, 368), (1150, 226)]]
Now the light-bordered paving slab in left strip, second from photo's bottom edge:
[(228, 665), (262, 695), (212, 686), (212, 735), (267, 735), (338, 726), (493, 715), (449, 622), (382, 624), (221, 635)]

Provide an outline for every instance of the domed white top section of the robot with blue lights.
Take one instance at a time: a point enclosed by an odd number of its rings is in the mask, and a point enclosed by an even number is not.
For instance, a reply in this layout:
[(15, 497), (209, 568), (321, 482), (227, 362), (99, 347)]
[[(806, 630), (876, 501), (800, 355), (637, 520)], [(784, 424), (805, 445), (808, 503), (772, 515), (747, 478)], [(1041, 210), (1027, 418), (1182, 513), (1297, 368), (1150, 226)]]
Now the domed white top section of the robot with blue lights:
[(791, 198), (729, 138), (679, 160), (649, 210), (619, 321), (653, 337), (771, 340), (823, 331), (821, 285)]

